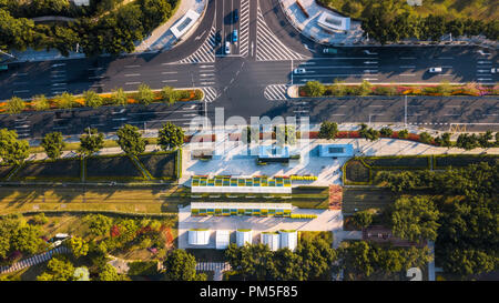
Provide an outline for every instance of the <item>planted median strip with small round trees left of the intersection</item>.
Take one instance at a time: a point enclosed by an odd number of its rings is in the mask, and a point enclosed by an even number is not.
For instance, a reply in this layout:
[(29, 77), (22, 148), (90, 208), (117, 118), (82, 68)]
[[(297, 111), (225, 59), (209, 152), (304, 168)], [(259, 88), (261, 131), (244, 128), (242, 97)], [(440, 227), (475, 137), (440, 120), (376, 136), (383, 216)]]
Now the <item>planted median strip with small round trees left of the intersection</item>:
[(44, 95), (35, 95), (31, 100), (22, 100), (12, 97), (10, 100), (0, 102), (0, 113), (21, 113), (23, 111), (44, 111), (55, 109), (73, 109), (73, 108), (100, 108), (103, 105), (128, 105), (151, 103), (173, 104), (180, 101), (197, 101), (203, 98), (201, 90), (174, 90), (165, 87), (162, 90), (151, 90), (146, 84), (141, 84), (136, 92), (125, 92), (119, 88), (112, 93), (96, 93), (92, 90), (82, 94), (73, 95), (68, 92), (45, 98)]

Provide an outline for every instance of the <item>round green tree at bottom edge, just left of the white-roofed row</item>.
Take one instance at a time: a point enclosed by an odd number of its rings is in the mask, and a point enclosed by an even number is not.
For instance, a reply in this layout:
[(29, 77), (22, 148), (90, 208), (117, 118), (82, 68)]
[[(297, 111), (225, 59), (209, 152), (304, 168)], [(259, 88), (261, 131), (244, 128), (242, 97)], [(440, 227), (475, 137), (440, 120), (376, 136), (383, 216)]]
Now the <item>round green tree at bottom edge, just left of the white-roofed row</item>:
[(205, 277), (196, 274), (196, 259), (184, 250), (174, 250), (163, 265), (165, 277), (171, 281), (200, 281)]

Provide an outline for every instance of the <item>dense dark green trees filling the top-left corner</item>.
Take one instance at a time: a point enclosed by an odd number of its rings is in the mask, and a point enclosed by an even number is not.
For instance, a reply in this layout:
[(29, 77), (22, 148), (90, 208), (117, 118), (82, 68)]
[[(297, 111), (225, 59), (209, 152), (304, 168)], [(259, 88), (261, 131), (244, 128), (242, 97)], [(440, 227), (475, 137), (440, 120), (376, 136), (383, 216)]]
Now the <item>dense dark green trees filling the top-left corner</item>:
[[(86, 55), (133, 52), (135, 42), (165, 22), (177, 0), (96, 0), (77, 7), (69, 0), (1, 0), (0, 50), (57, 49), (63, 55), (80, 49)], [(35, 22), (57, 16), (74, 20)]]

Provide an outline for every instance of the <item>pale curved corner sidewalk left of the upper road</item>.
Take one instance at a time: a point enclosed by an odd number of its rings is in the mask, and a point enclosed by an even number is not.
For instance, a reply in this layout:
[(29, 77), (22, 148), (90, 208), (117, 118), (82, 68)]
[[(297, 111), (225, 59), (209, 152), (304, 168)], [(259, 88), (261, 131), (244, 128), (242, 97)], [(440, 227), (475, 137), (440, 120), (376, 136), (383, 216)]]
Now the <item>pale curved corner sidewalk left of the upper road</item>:
[[(175, 11), (175, 14), (172, 16), (169, 21), (164, 22), (159, 28), (154, 29), (153, 32), (145, 38), (136, 48), (135, 52), (145, 52), (145, 51), (160, 51), (160, 50), (169, 50), (179, 43), (179, 40), (173, 36), (173, 32), (170, 28), (181, 19), (189, 10), (193, 10), (198, 14), (203, 14), (204, 9), (206, 8), (207, 0), (180, 0), (181, 3)], [(197, 22), (201, 22), (201, 18)], [(197, 24), (194, 24), (193, 29), (195, 29)], [(194, 32), (191, 29), (182, 40), (189, 38), (190, 34)]]

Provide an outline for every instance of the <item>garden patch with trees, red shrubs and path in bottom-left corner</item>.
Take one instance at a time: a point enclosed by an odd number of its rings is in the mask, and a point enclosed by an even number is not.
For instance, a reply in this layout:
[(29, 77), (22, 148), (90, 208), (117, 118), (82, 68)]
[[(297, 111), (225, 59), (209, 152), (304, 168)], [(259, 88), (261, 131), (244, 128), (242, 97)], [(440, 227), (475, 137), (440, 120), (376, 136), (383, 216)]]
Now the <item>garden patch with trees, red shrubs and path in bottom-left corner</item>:
[[(195, 266), (195, 261), (192, 264), (175, 257), (183, 251), (175, 250), (174, 216), (8, 215), (0, 218), (0, 230), (2, 265), (50, 250), (50, 239), (57, 233), (71, 236), (62, 242), (69, 253), (57, 254), (49, 262), (20, 272), (2, 274), (1, 280), (126, 281), (141, 276), (165, 280), (174, 273), (174, 266), (182, 266), (186, 272)], [(118, 272), (109, 263), (114, 257), (138, 261), (129, 263), (128, 272)], [(159, 266), (163, 262), (169, 266)]]

